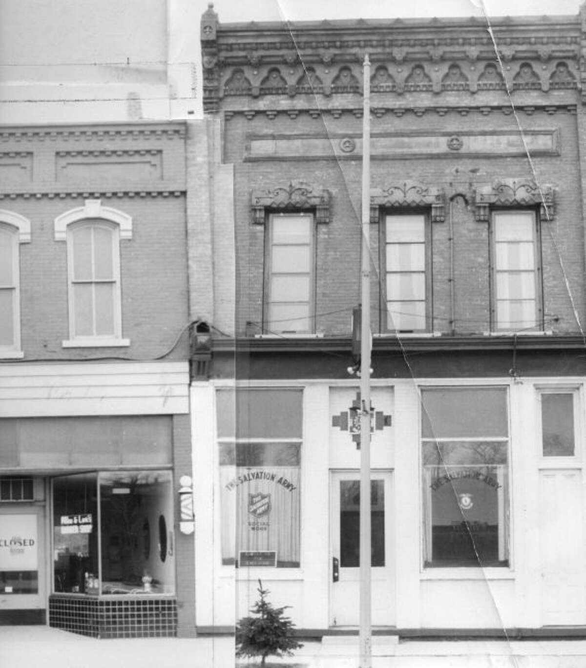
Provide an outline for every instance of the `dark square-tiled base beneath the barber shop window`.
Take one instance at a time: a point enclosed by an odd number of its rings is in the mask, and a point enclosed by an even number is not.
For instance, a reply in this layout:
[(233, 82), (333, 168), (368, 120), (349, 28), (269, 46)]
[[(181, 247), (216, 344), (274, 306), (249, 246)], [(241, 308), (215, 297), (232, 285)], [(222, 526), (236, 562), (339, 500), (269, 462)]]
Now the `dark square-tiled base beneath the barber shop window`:
[(177, 601), (51, 595), (49, 626), (94, 638), (174, 637)]

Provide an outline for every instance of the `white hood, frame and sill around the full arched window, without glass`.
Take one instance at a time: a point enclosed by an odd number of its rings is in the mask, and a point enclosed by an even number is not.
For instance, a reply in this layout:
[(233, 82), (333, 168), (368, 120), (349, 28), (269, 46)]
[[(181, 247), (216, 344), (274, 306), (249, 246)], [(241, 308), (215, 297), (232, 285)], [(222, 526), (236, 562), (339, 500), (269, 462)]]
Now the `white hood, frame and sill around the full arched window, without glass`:
[[(114, 275), (114, 335), (84, 335), (76, 334), (74, 311), (74, 252), (71, 240), (71, 230), (79, 226), (99, 225), (108, 227), (112, 234), (112, 259)], [(71, 227), (75, 226), (75, 227)], [(69, 339), (62, 341), (64, 348), (79, 347), (123, 347), (130, 345), (130, 339), (122, 338), (122, 286), (120, 275), (120, 240), (132, 238), (132, 218), (109, 206), (102, 206), (101, 200), (86, 200), (84, 206), (71, 209), (55, 218), (55, 241), (67, 243), (67, 293), (69, 305)]]

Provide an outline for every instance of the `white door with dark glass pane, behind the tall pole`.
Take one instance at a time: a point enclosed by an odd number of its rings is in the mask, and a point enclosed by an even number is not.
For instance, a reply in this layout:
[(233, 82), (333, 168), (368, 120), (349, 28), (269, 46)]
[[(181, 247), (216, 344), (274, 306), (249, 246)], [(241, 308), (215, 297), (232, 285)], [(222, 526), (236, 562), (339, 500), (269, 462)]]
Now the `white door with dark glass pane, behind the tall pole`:
[[(331, 626), (359, 624), (359, 511), (357, 471), (331, 472), (330, 615)], [(372, 625), (395, 624), (392, 550), (392, 472), (373, 471), (370, 482), (372, 521)]]

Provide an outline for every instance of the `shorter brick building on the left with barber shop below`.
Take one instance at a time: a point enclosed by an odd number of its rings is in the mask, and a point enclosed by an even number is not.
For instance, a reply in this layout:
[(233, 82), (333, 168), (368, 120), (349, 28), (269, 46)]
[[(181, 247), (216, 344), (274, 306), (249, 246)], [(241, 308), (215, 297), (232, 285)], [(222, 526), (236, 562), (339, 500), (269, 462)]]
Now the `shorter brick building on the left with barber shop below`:
[(186, 124), (1, 141), (0, 623), (194, 635)]

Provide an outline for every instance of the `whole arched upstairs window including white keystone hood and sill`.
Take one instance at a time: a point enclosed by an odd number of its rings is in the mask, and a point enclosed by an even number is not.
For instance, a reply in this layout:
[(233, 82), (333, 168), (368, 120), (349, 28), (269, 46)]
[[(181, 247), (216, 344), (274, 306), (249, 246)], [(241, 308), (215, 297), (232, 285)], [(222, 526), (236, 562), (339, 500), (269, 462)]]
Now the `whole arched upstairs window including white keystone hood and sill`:
[(88, 200), (55, 220), (55, 239), (67, 242), (69, 340), (64, 347), (129, 345), (122, 338), (120, 239), (130, 216)]

